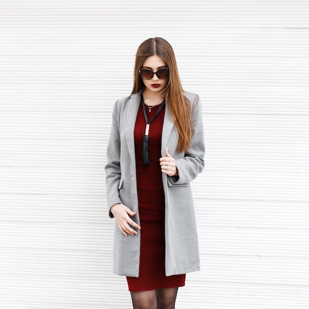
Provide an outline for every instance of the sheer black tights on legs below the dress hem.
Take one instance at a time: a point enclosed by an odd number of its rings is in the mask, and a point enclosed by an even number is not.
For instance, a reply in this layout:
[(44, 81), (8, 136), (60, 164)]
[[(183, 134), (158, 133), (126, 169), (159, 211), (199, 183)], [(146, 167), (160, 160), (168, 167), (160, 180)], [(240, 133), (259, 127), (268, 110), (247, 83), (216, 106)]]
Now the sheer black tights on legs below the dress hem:
[(133, 309), (175, 309), (178, 288), (131, 292)]

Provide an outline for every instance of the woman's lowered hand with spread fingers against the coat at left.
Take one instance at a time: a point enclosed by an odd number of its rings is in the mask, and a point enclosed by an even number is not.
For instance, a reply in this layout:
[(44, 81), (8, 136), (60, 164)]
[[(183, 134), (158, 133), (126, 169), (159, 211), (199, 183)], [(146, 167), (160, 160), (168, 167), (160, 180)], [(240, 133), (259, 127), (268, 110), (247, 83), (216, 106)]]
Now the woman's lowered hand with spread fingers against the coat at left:
[(111, 207), (111, 212), (115, 217), (115, 220), (117, 222), (117, 225), (119, 227), (120, 232), (127, 236), (127, 234), (130, 235), (137, 235), (137, 231), (132, 229), (130, 226), (140, 230), (141, 227), (135, 223), (130, 216), (135, 216), (136, 212), (130, 210), (127, 206), (123, 204), (115, 204)]

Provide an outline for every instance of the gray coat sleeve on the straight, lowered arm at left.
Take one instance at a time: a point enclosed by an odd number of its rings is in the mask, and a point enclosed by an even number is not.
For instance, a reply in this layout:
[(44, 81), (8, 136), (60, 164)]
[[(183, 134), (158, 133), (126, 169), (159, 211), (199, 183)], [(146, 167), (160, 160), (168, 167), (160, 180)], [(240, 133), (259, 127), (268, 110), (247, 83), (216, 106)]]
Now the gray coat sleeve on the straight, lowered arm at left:
[(114, 218), (111, 207), (116, 203), (121, 203), (119, 197), (120, 171), (120, 133), (117, 117), (117, 102), (114, 105), (112, 127), (110, 139), (107, 147), (106, 173), (106, 195), (109, 216)]

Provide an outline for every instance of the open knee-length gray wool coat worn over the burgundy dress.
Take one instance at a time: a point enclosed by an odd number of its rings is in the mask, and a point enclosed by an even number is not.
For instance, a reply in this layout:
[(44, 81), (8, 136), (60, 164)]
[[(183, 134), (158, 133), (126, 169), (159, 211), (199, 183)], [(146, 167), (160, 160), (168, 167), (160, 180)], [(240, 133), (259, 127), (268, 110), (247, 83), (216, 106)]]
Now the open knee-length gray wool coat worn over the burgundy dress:
[[(199, 270), (197, 231), (190, 182), (204, 167), (204, 138), (201, 104), (197, 95), (184, 93), (191, 102), (193, 115), (192, 147), (186, 153), (177, 151), (177, 132), (165, 108), (162, 129), (161, 155), (165, 147), (176, 160), (179, 179), (162, 173), (165, 193), (165, 273), (187, 273)], [(109, 216), (111, 207), (122, 203), (136, 216), (140, 224), (136, 188), (134, 125), (140, 105), (140, 93), (116, 101), (113, 111), (111, 136), (107, 149), (106, 193)], [(159, 162), (158, 162), (158, 168)], [(124, 236), (115, 225), (114, 272), (138, 277), (140, 260), (140, 233)]]

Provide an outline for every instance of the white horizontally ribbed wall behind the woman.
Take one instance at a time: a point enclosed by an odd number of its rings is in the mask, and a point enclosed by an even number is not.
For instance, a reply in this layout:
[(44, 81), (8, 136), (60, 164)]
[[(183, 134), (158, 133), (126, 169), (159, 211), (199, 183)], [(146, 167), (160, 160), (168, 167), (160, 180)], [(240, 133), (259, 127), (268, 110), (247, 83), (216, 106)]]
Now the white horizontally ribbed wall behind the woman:
[(0, 0), (0, 308), (131, 308), (104, 164), (150, 37), (203, 103), (202, 270), (177, 309), (308, 309), (307, 0)]

